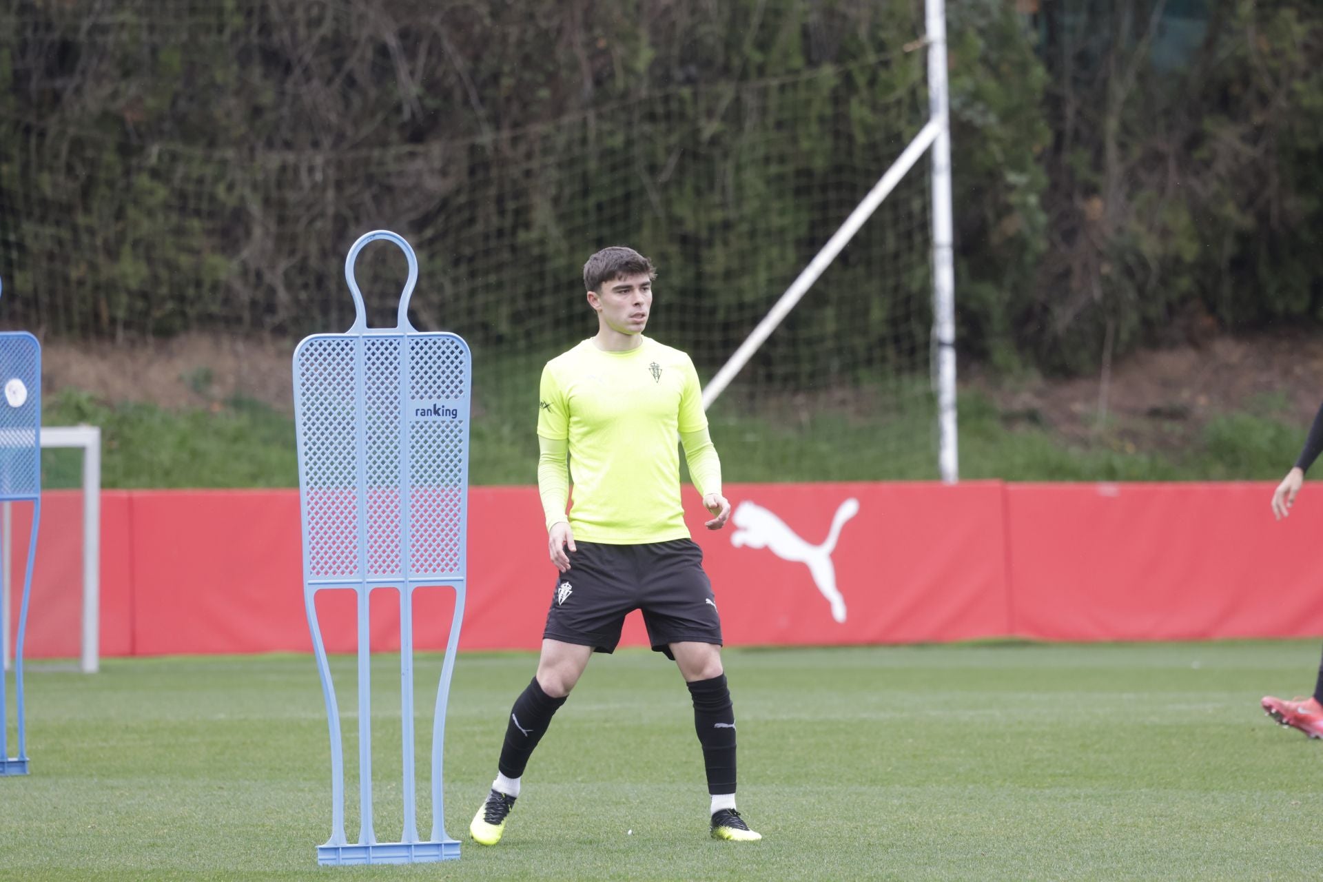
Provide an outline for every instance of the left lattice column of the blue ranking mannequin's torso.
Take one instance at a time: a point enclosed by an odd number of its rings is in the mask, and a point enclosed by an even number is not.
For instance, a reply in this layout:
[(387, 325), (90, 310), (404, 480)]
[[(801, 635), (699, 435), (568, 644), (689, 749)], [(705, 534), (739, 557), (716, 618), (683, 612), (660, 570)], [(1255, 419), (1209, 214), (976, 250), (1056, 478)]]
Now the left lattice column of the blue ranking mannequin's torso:
[(356, 577), (360, 562), (355, 340), (307, 340), (298, 354), (295, 380), (308, 574)]

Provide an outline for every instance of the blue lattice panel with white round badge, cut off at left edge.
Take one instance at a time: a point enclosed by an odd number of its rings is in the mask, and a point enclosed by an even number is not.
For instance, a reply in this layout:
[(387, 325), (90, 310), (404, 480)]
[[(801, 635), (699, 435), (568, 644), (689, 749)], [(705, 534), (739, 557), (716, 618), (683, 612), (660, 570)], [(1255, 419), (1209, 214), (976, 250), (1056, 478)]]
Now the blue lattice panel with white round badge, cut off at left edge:
[(0, 389), (17, 380), (26, 399), (13, 407), (0, 395), (0, 499), (36, 497), (41, 492), (41, 348), (25, 333), (0, 333)]

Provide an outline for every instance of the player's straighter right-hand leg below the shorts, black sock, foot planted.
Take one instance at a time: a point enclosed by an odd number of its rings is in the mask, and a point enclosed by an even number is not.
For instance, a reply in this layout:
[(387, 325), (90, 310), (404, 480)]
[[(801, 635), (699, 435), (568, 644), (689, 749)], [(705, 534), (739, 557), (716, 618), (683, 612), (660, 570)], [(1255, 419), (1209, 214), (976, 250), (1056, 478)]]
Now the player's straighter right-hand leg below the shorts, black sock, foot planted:
[(712, 834), (724, 840), (758, 840), (758, 833), (736, 811), (736, 711), (721, 665), (721, 647), (713, 643), (669, 644), (693, 698), (693, 729), (703, 746), (703, 764), (712, 797)]

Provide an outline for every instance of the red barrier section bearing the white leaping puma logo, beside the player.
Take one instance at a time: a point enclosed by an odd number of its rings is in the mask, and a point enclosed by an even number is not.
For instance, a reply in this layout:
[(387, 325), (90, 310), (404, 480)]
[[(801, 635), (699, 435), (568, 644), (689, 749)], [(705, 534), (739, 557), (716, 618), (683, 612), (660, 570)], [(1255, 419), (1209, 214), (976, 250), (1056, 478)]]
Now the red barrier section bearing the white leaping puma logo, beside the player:
[(703, 545), (732, 644), (918, 643), (1007, 631), (1000, 484), (744, 484), (728, 493), (730, 524), (709, 532), (699, 509), (689, 532)]

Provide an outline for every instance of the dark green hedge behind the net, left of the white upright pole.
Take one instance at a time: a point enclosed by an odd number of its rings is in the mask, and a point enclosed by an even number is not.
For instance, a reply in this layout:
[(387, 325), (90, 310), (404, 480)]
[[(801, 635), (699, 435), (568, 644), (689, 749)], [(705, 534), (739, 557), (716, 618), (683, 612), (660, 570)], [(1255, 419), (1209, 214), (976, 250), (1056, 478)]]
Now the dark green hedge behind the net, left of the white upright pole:
[[(0, 202), (16, 206), (0, 213), (0, 258), (41, 295), (7, 316), (52, 333), (344, 327), (339, 267), (376, 225), (414, 242), (442, 295), (415, 299), (418, 324), (478, 346), (572, 339), (565, 304), (586, 254), (647, 242), (672, 324), (713, 315), (718, 333), (693, 346), (710, 364), (844, 220), (836, 194), (852, 206), (922, 122), (922, 53), (902, 49), (919, 25), (904, 4), (93, 12), (34, 4), (0, 28), (13, 107)], [(852, 246), (916, 263), (888, 280), (892, 315), (929, 309), (913, 234), (875, 223)], [(823, 286), (856, 296), (878, 266), (847, 258)], [(365, 259), (360, 282), (398, 290), (398, 270)], [(377, 300), (368, 312), (386, 315)], [(847, 350), (886, 360), (926, 344), (917, 321), (878, 348), (857, 312), (806, 303), (796, 321), (841, 345), (782, 336), (761, 364), (803, 383)]]

